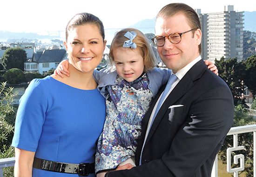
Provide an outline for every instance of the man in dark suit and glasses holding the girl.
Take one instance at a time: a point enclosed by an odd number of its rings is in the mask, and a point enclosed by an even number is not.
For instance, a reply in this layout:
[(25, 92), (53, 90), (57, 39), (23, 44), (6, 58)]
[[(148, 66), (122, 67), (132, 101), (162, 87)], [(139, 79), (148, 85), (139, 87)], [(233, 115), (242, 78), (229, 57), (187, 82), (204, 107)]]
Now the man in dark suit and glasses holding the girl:
[(191, 7), (163, 7), (155, 34), (157, 51), (174, 79), (161, 88), (142, 121), (137, 166), (105, 177), (210, 177), (233, 123), (232, 94), (201, 59), (200, 20)]

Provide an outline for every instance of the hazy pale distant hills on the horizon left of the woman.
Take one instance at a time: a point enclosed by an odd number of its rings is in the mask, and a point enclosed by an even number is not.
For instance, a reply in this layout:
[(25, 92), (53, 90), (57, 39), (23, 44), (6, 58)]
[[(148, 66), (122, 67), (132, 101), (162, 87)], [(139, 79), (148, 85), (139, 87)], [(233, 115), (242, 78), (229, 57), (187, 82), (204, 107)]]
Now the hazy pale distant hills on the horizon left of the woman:
[(0, 39), (58, 39), (59, 36), (39, 35), (37, 33), (12, 33), (0, 31)]

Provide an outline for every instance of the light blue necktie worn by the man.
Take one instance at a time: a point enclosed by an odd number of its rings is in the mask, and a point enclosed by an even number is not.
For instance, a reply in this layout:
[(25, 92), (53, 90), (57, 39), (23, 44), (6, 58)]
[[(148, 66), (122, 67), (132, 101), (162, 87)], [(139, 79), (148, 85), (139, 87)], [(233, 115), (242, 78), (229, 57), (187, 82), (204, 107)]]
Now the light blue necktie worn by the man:
[[(152, 121), (151, 121), (150, 126), (149, 126), (149, 130), (150, 130), (150, 128), (151, 128), (151, 126), (152, 126), (152, 124), (153, 124), (153, 122), (154, 122), (154, 120), (155, 120), (155, 116), (156, 116), (157, 112), (160, 110), (160, 108), (161, 108), (161, 106), (162, 106), (162, 103), (163, 103), (163, 101), (164, 101), (164, 98), (166, 97), (167, 93), (168, 93), (169, 90), (171, 89), (171, 86), (172, 86), (172, 84), (175, 82), (176, 79), (177, 79), (177, 76), (176, 76), (175, 74), (172, 74), (172, 75), (169, 77), (169, 80), (168, 80), (168, 82), (167, 82), (167, 85), (165, 86), (165, 89), (164, 89), (164, 91), (163, 91), (163, 93), (162, 93), (162, 96), (161, 96), (161, 98), (160, 98), (160, 100), (159, 100), (159, 102), (158, 102), (158, 104), (157, 104), (157, 106), (156, 106), (154, 116), (153, 116)], [(146, 136), (147, 136), (147, 135), (146, 135)], [(145, 138), (147, 138), (147, 137), (145, 137)], [(145, 141), (146, 141), (146, 139), (144, 139), (144, 144), (145, 144)], [(143, 146), (142, 146), (141, 156), (142, 156), (142, 151), (143, 151), (143, 149), (144, 149), (144, 144), (143, 144)], [(139, 163), (140, 163), (140, 165), (141, 165), (141, 157), (140, 157), (140, 162), (139, 162)]]

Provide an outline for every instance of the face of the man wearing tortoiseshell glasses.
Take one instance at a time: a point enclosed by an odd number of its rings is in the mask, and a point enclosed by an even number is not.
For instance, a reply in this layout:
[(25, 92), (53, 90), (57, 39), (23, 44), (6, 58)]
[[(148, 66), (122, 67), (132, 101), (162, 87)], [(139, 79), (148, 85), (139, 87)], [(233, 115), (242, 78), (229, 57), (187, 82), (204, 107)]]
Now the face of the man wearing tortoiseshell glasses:
[[(191, 30), (188, 20), (182, 13), (177, 13), (168, 18), (159, 17), (155, 23), (155, 35), (166, 36), (165, 44), (157, 47), (157, 51), (163, 63), (174, 73), (199, 56), (198, 46), (201, 43), (201, 30), (182, 34), (182, 40), (178, 44), (172, 44), (167, 36), (172, 33), (183, 33)], [(193, 35), (193, 32), (194, 35)]]

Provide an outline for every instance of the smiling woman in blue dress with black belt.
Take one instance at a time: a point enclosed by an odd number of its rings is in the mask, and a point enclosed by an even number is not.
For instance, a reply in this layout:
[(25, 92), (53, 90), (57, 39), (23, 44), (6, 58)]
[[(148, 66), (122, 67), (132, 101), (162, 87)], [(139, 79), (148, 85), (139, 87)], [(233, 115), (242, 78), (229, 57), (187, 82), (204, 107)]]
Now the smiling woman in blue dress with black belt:
[(106, 116), (93, 78), (106, 46), (102, 22), (89, 13), (76, 14), (64, 44), (70, 77), (34, 79), (20, 98), (12, 143), (15, 177), (94, 177)]

